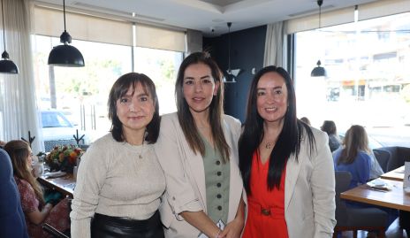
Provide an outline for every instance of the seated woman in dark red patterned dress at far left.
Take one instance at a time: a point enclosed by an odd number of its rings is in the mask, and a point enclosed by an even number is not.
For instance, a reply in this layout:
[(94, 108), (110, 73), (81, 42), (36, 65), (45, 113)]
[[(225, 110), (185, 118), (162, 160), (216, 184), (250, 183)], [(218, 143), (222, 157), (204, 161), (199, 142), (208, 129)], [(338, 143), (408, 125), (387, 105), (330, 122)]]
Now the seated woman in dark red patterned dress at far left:
[(44, 202), (42, 188), (32, 173), (33, 153), (28, 143), (7, 142), (4, 150), (11, 157), (14, 180), (19, 188), (28, 235), (31, 238), (49, 237), (49, 234), (42, 230), (43, 223), (48, 223), (60, 232), (68, 230), (70, 228), (68, 200), (64, 199), (54, 207), (51, 203)]

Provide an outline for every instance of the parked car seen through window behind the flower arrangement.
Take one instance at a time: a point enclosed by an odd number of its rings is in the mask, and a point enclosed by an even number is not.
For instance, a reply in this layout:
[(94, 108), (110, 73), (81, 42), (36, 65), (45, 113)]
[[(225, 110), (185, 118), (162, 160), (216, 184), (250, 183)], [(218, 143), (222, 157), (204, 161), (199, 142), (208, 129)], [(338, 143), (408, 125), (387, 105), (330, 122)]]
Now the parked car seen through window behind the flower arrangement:
[[(76, 134), (77, 129), (65, 117), (63, 111), (42, 111), (42, 138), (46, 151), (52, 150), (56, 145), (76, 144), (73, 135)], [(79, 136), (83, 134), (84, 132), (79, 130)], [(85, 137), (80, 143), (84, 144), (87, 142)]]

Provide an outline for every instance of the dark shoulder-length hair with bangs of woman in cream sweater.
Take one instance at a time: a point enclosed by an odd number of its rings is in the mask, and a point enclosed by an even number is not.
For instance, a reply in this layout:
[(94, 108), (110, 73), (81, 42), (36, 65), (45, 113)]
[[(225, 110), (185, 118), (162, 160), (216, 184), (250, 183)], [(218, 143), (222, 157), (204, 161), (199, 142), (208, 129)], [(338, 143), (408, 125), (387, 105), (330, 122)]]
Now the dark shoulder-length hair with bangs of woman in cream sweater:
[(135, 91), (138, 83), (140, 83), (145, 93), (152, 97), (156, 109), (156, 111), (154, 111), (154, 117), (147, 125), (147, 136), (145, 137), (145, 141), (148, 143), (155, 143), (156, 139), (158, 139), (161, 119), (159, 117), (159, 104), (158, 96), (156, 96), (156, 85), (147, 75), (143, 73), (125, 73), (118, 78), (114, 85), (112, 85), (108, 99), (108, 117), (111, 120), (110, 132), (112, 137), (114, 137), (117, 142), (124, 142), (125, 140), (123, 124), (118, 119), (117, 115), (117, 100), (122, 96), (125, 96), (131, 86), (133, 87), (133, 91)]

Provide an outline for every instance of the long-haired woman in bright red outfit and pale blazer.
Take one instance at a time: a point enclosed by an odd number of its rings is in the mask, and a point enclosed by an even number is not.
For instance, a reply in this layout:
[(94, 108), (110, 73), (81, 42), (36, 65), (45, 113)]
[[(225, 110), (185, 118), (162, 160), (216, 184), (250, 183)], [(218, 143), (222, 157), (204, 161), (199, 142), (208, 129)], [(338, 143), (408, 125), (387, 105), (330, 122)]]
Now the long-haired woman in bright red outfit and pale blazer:
[(267, 66), (256, 73), (239, 139), (247, 191), (244, 238), (331, 237), (335, 176), (328, 137), (296, 117), (292, 79)]

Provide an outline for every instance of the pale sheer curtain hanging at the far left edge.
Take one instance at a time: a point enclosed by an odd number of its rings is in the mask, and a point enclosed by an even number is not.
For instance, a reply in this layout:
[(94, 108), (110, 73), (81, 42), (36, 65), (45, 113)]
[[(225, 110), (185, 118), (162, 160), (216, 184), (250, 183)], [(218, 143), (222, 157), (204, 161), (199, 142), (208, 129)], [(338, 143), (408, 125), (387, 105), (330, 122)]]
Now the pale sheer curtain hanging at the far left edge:
[(0, 139), (8, 142), (23, 137), (28, 141), (30, 131), (31, 137), (35, 136), (32, 150), (37, 153), (43, 151), (44, 145), (35, 99), (30, 38), (33, 4), (30, 0), (3, 2), (6, 50), (19, 66), (19, 74), (0, 74)]

